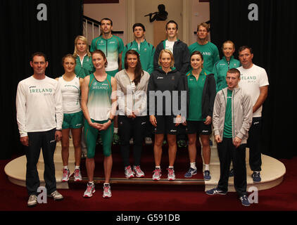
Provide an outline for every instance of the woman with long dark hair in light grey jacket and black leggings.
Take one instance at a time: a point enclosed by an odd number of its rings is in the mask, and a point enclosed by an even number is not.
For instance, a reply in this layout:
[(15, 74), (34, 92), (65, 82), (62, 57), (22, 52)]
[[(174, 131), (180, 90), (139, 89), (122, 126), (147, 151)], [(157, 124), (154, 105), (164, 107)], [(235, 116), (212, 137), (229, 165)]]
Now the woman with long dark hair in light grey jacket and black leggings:
[[(146, 130), (146, 90), (149, 74), (141, 69), (139, 53), (129, 50), (125, 54), (125, 70), (117, 72), (119, 134), (125, 176), (144, 177), (140, 168), (142, 141)], [(133, 138), (134, 165), (129, 163), (129, 140)]]

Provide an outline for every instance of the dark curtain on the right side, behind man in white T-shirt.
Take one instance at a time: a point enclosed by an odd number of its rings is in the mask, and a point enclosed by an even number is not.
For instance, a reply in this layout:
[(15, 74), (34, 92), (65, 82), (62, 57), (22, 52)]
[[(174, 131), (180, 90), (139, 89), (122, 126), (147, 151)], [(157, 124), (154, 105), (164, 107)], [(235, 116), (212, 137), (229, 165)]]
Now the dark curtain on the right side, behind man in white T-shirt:
[[(249, 20), (250, 4), (258, 6), (258, 20)], [(251, 46), (253, 63), (265, 68), (270, 82), (263, 105), (262, 149), (274, 158), (297, 155), (296, 103), (297, 1), (210, 1), (211, 41), (221, 49), (230, 39), (236, 48)], [(222, 56), (222, 53), (221, 53)], [(238, 56), (236, 52), (236, 56)]]

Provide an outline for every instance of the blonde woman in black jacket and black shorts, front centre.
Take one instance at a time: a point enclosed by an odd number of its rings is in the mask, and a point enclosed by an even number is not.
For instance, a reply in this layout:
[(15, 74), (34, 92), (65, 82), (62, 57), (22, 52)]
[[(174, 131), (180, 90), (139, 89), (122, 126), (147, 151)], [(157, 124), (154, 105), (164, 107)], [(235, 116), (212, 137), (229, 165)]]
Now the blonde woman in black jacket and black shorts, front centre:
[[(175, 156), (177, 153), (177, 126), (179, 123), (175, 123), (175, 117), (180, 118), (180, 115), (174, 115), (172, 110), (172, 105), (179, 101), (179, 99), (173, 98), (174, 91), (182, 91), (184, 89), (184, 83), (182, 80), (182, 74), (178, 72), (173, 65), (175, 60), (173, 58), (172, 52), (166, 49), (160, 51), (159, 56), (159, 65), (160, 68), (157, 68), (151, 73), (151, 77), (148, 81), (148, 108), (149, 108), (149, 120), (153, 125), (155, 133), (155, 143), (153, 146), (153, 153), (155, 158), (156, 169), (153, 171), (153, 180), (158, 181), (161, 177), (160, 162), (162, 157), (162, 145), (165, 134), (167, 135), (168, 140), (168, 155), (169, 155), (169, 167), (168, 167), (168, 180), (175, 180), (175, 171), (173, 166), (175, 164)], [(155, 91), (155, 105), (153, 103), (150, 105), (150, 102), (153, 102), (153, 98), (150, 96)], [(166, 109), (166, 99), (163, 97), (163, 111), (158, 110), (158, 97), (157, 95), (162, 93), (167, 95), (168, 91), (170, 93), (170, 108)], [(179, 103), (180, 104), (180, 103)], [(154, 108), (154, 109), (153, 109)], [(170, 112), (170, 113), (168, 113)], [(160, 115), (161, 114), (161, 115)], [(169, 115), (168, 115), (169, 114)]]

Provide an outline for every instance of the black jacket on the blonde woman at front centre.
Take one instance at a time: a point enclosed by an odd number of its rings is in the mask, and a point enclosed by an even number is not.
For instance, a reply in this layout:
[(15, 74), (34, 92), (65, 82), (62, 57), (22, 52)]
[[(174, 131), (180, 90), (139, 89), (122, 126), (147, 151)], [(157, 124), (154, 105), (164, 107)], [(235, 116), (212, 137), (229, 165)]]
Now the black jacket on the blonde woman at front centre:
[[(147, 89), (147, 108), (148, 108), (148, 115), (157, 115), (157, 102), (158, 98), (156, 95), (151, 96), (150, 98), (150, 91), (160, 91), (161, 94), (170, 94), (170, 112), (171, 115), (175, 115), (173, 113), (172, 108), (173, 108), (173, 103), (175, 105), (178, 105), (177, 110), (180, 109), (180, 95), (181, 91), (184, 91), (184, 76), (180, 72), (178, 72), (175, 68), (173, 68), (168, 74), (166, 74), (161, 68), (157, 68), (151, 73), (151, 76), (148, 80), (148, 89)], [(166, 92), (164, 92), (166, 91)], [(174, 99), (173, 91), (178, 91), (177, 92), (177, 99)], [(160, 99), (160, 98), (159, 98)], [(151, 105), (150, 105), (151, 101)], [(154, 104), (153, 104), (154, 101)], [(173, 102), (175, 101), (175, 102)], [(177, 101), (177, 102), (176, 102)], [(162, 113), (165, 115), (165, 97), (162, 99), (163, 103), (163, 110)], [(169, 105), (168, 105), (169, 106)], [(153, 108), (154, 107), (154, 108)]]

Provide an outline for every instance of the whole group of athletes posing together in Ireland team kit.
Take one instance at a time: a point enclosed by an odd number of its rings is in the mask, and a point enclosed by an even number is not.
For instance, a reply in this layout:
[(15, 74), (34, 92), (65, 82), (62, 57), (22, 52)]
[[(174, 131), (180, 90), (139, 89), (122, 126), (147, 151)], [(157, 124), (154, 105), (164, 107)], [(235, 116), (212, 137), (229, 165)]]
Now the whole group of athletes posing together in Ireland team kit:
[[(166, 140), (167, 179), (173, 181), (177, 143), (181, 146), (187, 143), (189, 150), (189, 170), (184, 177), (197, 174), (196, 145), (200, 137), (205, 164), (203, 177), (208, 181), (211, 179), (210, 135), (214, 131), (220, 158), (220, 181), (217, 188), (206, 193), (226, 194), (229, 176), (234, 176), (241, 203), (249, 205), (246, 143), (250, 148), (253, 181), (260, 182), (261, 110), (269, 85), (265, 70), (252, 62), (252, 49), (241, 46), (239, 61), (233, 56), (234, 43), (225, 41), (222, 45), (224, 56), (220, 60), (217, 46), (208, 41), (210, 30), (206, 23), (198, 25), (198, 39), (189, 47), (177, 38), (178, 25), (173, 20), (165, 26), (167, 39), (156, 49), (144, 39), (146, 30), (141, 23), (134, 24), (134, 41), (125, 46), (120, 37), (112, 34), (112, 29), (112, 20), (103, 18), (101, 36), (91, 41), (90, 49), (85, 37), (76, 37), (74, 53), (63, 57), (64, 74), (56, 80), (45, 75), (48, 61), (44, 53), (32, 55), (30, 65), (34, 75), (18, 84), (16, 98), (20, 141), (27, 146), (27, 205), (37, 205), (36, 165), (40, 148), (44, 155), (46, 188), (54, 200), (63, 199), (56, 191), (53, 153), (56, 141), (61, 140), (62, 181), (68, 181), (70, 131), (75, 148), (74, 181), (82, 180), (80, 160), (82, 155), (86, 156), (89, 182), (83, 194), (85, 198), (95, 192), (94, 155), (99, 134), (104, 155), (103, 198), (110, 198), (113, 141), (120, 143), (125, 177), (140, 178), (144, 177), (142, 144), (144, 138), (151, 141), (151, 134), (154, 134), (152, 179), (158, 181), (162, 175), (162, 146)], [(161, 97), (165, 93), (169, 95), (169, 98), (162, 98), (161, 108), (158, 93)], [(187, 94), (186, 98), (183, 93)], [(179, 110), (172, 106), (176, 103), (178, 109), (183, 103), (187, 106), (185, 115), (176, 113)], [(129, 162), (131, 141), (132, 165)], [(230, 170), (231, 160), (233, 169)]]

